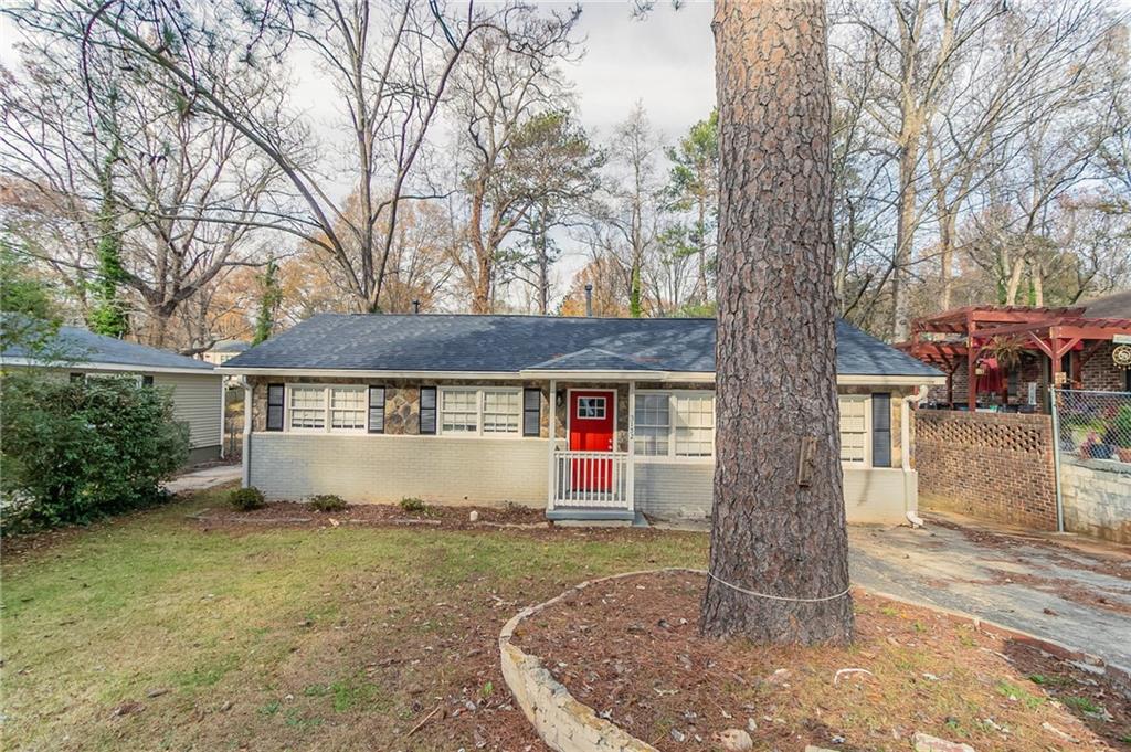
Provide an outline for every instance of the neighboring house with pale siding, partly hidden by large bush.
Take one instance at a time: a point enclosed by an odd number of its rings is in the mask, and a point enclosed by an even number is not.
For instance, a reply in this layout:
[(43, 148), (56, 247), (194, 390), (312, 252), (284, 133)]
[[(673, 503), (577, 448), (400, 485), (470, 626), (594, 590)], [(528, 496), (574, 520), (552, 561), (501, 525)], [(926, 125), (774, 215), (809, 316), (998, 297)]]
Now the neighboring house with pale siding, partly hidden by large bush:
[(58, 355), (44, 363), (12, 347), (0, 353), (0, 368), (48, 368), (69, 373), (72, 379), (135, 375), (141, 383), (172, 389), (174, 415), (189, 425), (187, 464), (221, 458), (224, 378), (210, 363), (77, 327), (60, 327), (49, 351)]

